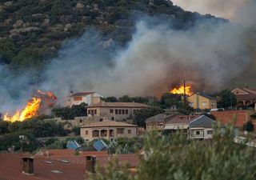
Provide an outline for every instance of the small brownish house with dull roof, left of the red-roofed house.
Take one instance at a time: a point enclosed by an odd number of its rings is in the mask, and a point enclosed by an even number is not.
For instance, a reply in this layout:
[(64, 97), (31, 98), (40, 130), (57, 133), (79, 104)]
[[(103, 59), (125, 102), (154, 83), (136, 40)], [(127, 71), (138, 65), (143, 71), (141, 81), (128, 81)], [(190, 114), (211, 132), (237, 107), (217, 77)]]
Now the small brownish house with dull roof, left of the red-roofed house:
[(154, 115), (150, 118), (146, 119), (146, 130), (164, 130), (165, 123), (168, 119), (174, 118), (175, 116), (178, 116), (178, 114), (168, 114), (168, 113), (162, 113)]

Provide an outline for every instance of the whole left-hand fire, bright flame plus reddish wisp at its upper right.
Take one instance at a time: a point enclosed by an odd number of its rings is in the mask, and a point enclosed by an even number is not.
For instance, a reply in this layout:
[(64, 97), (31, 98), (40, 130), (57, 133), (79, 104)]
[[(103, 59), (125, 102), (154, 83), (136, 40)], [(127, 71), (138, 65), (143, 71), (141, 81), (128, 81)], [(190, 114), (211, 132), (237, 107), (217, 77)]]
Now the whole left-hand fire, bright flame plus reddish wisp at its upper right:
[(37, 95), (31, 98), (26, 102), (26, 106), (22, 110), (17, 110), (17, 112), (9, 116), (6, 113), (3, 116), (3, 120), (7, 122), (23, 122), (27, 118), (33, 118), (38, 115), (39, 109), (46, 102), (48, 108), (54, 106), (54, 102), (57, 100), (57, 97), (51, 92), (42, 92), (42, 90), (37, 90)]

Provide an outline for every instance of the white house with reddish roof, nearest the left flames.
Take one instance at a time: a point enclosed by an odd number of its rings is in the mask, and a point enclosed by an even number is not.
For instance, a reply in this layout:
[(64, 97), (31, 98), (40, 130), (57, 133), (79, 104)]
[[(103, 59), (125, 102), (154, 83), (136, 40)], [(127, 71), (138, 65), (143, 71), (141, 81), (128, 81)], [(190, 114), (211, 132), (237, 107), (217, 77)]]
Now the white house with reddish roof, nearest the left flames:
[(88, 106), (100, 102), (103, 96), (96, 92), (78, 92), (71, 93), (64, 102), (65, 106), (79, 105), (82, 102), (86, 103)]

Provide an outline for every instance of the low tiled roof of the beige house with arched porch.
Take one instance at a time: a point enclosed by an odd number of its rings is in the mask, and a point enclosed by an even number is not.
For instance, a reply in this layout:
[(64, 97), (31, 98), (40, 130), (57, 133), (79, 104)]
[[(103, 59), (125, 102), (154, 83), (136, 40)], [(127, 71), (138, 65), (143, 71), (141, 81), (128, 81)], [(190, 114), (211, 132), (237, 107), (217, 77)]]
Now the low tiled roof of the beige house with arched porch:
[(137, 126), (133, 124), (128, 124), (126, 122), (114, 122), (110, 120), (104, 120), (102, 122), (94, 122), (86, 126), (81, 126), (81, 128), (83, 127), (86, 128), (86, 127), (137, 127)]

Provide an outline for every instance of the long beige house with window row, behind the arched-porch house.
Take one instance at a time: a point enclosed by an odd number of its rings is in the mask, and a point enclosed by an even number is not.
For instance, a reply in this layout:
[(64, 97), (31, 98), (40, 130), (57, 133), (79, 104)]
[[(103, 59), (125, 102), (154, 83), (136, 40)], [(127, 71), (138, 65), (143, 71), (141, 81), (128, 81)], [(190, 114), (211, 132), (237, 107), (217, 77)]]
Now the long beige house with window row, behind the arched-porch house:
[(119, 121), (131, 118), (137, 110), (142, 110), (148, 107), (150, 106), (138, 102), (101, 101), (97, 104), (87, 106), (87, 115)]

